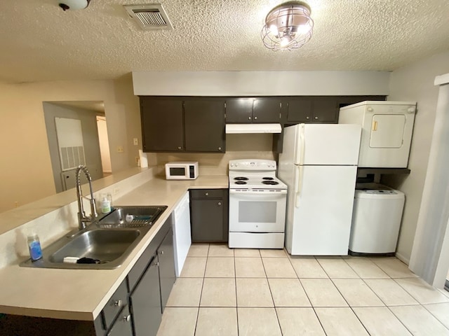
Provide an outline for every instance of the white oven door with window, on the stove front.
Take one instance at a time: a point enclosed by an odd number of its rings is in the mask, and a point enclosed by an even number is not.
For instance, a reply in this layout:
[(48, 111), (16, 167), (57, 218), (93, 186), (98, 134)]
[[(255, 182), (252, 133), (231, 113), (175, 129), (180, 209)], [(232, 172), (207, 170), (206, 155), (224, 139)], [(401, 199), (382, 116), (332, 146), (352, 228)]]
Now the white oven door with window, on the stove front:
[(287, 190), (229, 190), (229, 231), (284, 232)]

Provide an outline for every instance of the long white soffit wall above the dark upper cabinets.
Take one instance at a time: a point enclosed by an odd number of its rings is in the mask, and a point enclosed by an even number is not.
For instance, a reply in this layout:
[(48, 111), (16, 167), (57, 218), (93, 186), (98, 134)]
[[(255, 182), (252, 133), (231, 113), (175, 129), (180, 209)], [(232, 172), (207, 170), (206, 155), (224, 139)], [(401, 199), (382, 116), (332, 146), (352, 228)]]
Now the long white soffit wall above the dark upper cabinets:
[(161, 96), (387, 95), (386, 71), (135, 71), (134, 94)]

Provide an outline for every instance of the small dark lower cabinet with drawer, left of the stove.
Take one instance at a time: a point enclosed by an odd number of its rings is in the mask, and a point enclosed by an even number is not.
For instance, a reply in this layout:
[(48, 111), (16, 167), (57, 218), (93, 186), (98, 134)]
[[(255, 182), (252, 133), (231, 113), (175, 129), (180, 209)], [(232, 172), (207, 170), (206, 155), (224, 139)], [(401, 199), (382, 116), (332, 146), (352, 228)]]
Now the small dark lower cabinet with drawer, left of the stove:
[(190, 190), (192, 242), (227, 242), (228, 189)]

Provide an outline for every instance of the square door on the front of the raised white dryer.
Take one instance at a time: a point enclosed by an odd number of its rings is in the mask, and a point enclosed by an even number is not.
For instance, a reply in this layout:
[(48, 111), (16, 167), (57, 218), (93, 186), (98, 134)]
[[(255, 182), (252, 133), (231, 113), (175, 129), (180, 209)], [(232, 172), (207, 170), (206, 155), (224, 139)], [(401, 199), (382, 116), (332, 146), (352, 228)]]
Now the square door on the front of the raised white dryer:
[(375, 114), (371, 125), (370, 148), (401, 148), (406, 116), (403, 114)]

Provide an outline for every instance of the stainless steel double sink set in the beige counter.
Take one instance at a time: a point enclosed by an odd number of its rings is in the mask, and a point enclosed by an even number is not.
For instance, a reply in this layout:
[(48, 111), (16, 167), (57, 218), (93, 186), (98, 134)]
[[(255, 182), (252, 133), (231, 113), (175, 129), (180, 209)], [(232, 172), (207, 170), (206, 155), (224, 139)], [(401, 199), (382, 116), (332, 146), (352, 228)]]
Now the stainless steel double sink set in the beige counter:
[[(114, 269), (123, 263), (166, 209), (166, 206), (117, 207), (87, 228), (70, 232), (44, 248), (41, 259), (34, 262), (29, 259), (20, 266)], [(69, 262), (76, 258), (78, 262)]]

